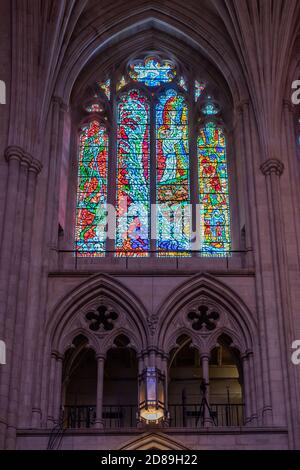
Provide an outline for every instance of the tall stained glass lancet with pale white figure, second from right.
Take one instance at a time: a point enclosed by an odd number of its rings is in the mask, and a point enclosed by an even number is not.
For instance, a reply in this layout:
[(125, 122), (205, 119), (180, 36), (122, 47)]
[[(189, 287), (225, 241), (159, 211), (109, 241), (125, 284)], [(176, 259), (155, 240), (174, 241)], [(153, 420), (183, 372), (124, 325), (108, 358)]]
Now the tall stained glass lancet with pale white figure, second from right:
[[(157, 248), (186, 255), (190, 248), (188, 110), (174, 89), (156, 105)], [(163, 253), (161, 253), (163, 255)]]

